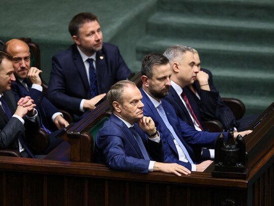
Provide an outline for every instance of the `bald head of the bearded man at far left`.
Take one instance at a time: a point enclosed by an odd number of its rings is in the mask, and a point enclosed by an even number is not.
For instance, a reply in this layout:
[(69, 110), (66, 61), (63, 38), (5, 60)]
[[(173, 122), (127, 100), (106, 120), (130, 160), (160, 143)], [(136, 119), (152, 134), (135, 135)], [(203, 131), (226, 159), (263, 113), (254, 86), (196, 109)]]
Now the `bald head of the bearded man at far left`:
[(3, 50), (12, 56), (14, 75), (24, 79), (30, 68), (30, 53), (28, 45), (20, 39), (11, 39), (5, 45)]

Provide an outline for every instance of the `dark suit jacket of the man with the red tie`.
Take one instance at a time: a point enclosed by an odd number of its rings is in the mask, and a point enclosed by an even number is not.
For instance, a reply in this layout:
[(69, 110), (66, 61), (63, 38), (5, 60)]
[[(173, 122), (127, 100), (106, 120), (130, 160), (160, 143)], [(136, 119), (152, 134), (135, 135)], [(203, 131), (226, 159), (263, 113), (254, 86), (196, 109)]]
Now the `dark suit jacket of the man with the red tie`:
[[(183, 88), (183, 91), (186, 93), (186, 96), (188, 98), (188, 101), (191, 105), (193, 112), (195, 113), (199, 122), (202, 123), (199, 106), (197, 105), (193, 96), (190, 94), (191, 91), (185, 88)], [(169, 93), (164, 99), (173, 106), (178, 117), (185, 121), (189, 126), (194, 127), (194, 123), (190, 117), (190, 114), (187, 111), (187, 108), (185, 107), (185, 105), (183, 104), (182, 100), (180, 99), (179, 95), (173, 87), (170, 87)], [(203, 130), (207, 129), (203, 127)]]

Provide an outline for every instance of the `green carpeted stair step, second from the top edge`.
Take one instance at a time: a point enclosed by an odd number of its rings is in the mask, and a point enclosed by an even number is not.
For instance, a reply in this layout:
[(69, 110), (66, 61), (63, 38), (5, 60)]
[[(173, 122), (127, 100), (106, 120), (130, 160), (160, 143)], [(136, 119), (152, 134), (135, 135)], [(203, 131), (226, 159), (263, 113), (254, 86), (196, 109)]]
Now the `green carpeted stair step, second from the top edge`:
[(239, 43), (256, 41), (261, 45), (274, 46), (274, 23), (269, 20), (157, 12), (147, 23), (147, 34), (165, 38), (215, 39)]

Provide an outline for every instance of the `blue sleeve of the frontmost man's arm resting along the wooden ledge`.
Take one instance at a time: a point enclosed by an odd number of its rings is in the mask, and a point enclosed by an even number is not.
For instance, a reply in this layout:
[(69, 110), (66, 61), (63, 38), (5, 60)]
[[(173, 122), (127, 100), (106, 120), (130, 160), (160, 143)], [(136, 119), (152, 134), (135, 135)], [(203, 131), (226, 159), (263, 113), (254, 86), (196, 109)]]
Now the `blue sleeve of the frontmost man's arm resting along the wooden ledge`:
[(148, 173), (150, 161), (127, 155), (121, 134), (122, 131), (114, 130), (113, 127), (104, 127), (96, 137), (97, 149), (104, 156), (107, 165), (118, 171)]

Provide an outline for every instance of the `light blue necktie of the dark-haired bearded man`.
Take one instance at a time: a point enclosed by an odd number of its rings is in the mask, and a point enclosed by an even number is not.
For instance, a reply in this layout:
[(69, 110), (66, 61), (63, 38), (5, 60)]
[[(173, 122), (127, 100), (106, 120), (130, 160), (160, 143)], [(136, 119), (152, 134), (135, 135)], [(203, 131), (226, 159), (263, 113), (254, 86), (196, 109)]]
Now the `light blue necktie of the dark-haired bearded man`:
[(162, 117), (164, 123), (165, 123), (165, 126), (167, 127), (167, 129), (169, 130), (170, 134), (172, 135), (172, 137), (178, 142), (178, 144), (180, 145), (181, 149), (183, 150), (183, 152), (185, 153), (186, 155), (186, 158), (187, 160), (189, 161), (189, 163), (193, 164), (193, 161), (192, 159), (190, 158), (189, 156), (189, 153), (187, 151), (187, 149), (185, 148), (184, 144), (181, 142), (181, 140), (179, 139), (179, 137), (177, 136), (176, 132), (174, 131), (173, 127), (170, 125), (167, 117), (166, 117), (166, 114), (164, 112), (164, 109), (163, 109), (163, 106), (162, 104), (159, 104), (159, 106), (157, 107), (158, 110), (159, 110), (159, 114), (160, 116)]

